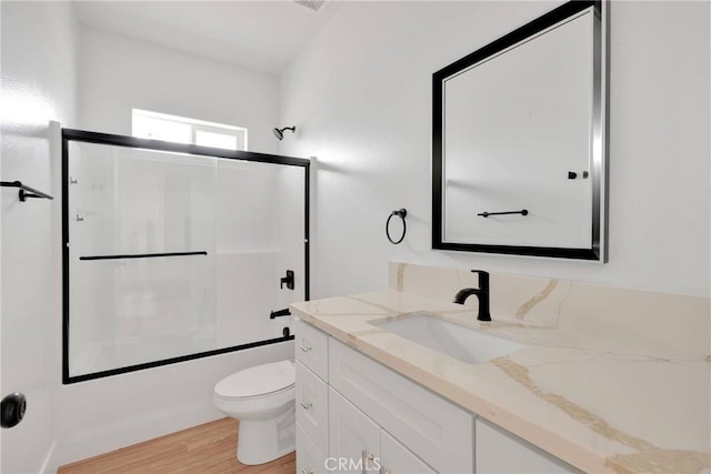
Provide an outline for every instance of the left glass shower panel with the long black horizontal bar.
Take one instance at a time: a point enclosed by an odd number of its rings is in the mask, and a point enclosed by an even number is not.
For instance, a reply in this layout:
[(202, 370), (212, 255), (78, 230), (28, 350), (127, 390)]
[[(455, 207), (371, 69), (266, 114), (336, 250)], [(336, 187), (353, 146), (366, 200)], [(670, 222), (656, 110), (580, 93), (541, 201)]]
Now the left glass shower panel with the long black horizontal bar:
[(214, 349), (217, 159), (69, 147), (68, 375)]

